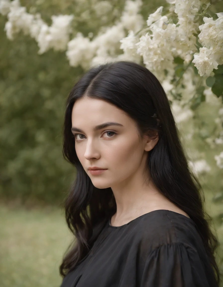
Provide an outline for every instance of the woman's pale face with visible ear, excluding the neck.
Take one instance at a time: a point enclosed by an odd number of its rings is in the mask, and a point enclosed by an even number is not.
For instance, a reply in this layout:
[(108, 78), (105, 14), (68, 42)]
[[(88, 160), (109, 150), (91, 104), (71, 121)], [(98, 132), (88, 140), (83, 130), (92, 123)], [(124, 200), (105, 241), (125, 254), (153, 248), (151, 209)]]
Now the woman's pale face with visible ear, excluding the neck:
[[(97, 188), (115, 187), (131, 179), (145, 163), (154, 143), (139, 139), (134, 121), (116, 106), (100, 99), (81, 98), (72, 110), (75, 150), (84, 170)], [(119, 125), (94, 130), (107, 122)], [(81, 131), (75, 131), (75, 128)], [(146, 149), (146, 150), (145, 150)], [(144, 163), (143, 163), (144, 162)], [(106, 169), (93, 175), (88, 168)]]

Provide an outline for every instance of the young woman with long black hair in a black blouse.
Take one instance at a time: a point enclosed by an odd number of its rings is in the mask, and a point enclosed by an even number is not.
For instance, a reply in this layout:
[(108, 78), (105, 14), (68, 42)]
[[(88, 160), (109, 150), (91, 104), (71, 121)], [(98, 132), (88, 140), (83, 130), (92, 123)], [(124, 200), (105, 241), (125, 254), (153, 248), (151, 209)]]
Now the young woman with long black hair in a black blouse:
[(87, 71), (66, 102), (63, 154), (77, 174), (61, 287), (219, 286), (202, 188), (148, 69), (119, 61)]

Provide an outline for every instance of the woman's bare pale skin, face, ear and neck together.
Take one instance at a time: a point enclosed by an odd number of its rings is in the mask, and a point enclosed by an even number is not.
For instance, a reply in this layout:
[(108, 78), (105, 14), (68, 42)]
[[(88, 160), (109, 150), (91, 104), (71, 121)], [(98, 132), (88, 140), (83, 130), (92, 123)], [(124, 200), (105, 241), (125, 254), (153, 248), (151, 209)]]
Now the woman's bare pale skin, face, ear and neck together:
[[(153, 210), (171, 210), (189, 217), (165, 197), (144, 172), (148, 152), (159, 141), (156, 138), (138, 137), (135, 122), (123, 110), (100, 99), (81, 98), (73, 106), (72, 130), (75, 150), (93, 185), (99, 189), (111, 187), (117, 211), (111, 218), (112, 226), (121, 226)], [(110, 125), (94, 131), (93, 127), (106, 122)], [(116, 134), (115, 134), (116, 133)], [(105, 168), (103, 173), (92, 175), (88, 168)]]

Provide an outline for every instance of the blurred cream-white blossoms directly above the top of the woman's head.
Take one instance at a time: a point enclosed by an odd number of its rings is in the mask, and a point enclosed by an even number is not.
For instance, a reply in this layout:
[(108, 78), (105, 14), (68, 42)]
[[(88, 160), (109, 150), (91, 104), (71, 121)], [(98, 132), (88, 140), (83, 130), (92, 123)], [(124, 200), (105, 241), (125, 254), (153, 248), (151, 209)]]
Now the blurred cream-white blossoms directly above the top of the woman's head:
[[(88, 69), (94, 65), (104, 63), (105, 61), (132, 60), (140, 62), (140, 55), (133, 55), (132, 52), (124, 51), (119, 54), (120, 41), (125, 37), (125, 30), (131, 30), (132, 33), (142, 29), (143, 17), (139, 13), (142, 5), (141, 0), (127, 0), (120, 21), (111, 27), (102, 27), (98, 35), (90, 41), (78, 32), (67, 45), (66, 56), (73, 67), (81, 65)], [(129, 48), (131, 50), (131, 48)]]

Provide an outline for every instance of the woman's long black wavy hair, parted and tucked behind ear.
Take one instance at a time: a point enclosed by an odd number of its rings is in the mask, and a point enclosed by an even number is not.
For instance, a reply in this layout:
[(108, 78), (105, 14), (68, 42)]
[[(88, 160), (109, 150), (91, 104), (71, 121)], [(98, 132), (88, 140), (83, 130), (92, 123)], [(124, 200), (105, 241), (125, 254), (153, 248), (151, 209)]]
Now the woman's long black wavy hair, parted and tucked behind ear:
[(76, 167), (77, 174), (64, 205), (66, 222), (75, 240), (64, 255), (60, 274), (64, 277), (87, 256), (105, 222), (116, 212), (111, 188), (94, 187), (75, 152), (71, 113), (75, 101), (83, 97), (101, 99), (122, 109), (135, 121), (140, 137), (158, 132), (159, 141), (148, 152), (150, 177), (195, 222), (219, 284), (220, 271), (214, 255), (219, 242), (210, 229), (204, 193), (188, 166), (169, 100), (159, 80), (132, 61), (92, 67), (77, 81), (66, 100), (63, 156)]

